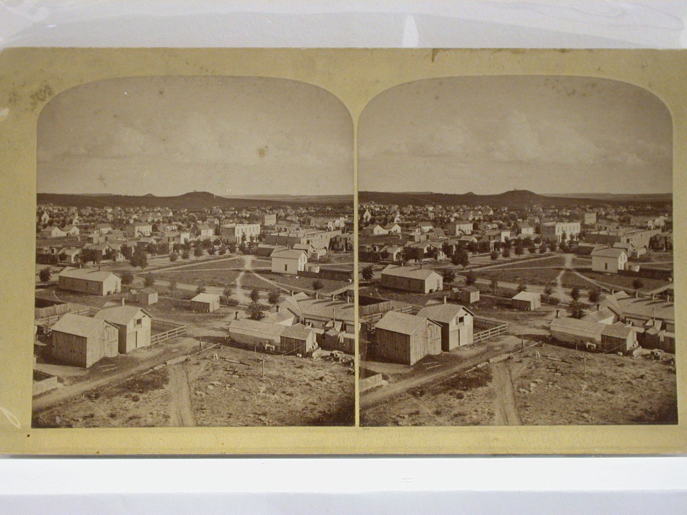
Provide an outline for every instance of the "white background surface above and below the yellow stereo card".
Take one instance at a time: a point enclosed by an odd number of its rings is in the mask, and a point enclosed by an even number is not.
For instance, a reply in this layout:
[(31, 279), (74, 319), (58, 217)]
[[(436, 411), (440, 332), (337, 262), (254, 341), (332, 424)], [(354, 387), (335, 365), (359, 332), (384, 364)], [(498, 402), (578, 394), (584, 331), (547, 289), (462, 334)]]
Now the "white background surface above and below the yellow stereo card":
[[(684, 48), (686, 19), (686, 1), (0, 0), (0, 48)], [(684, 457), (0, 461), (2, 514), (667, 514), (686, 506)]]

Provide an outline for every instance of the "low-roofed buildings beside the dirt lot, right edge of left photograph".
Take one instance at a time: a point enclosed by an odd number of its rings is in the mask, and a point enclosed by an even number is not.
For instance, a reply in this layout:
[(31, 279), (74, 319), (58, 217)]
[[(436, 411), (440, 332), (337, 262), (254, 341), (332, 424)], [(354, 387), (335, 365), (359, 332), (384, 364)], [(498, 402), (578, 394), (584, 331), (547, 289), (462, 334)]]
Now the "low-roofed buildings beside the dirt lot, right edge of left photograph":
[(261, 350), (309, 356), (316, 349), (355, 352), (355, 317), (351, 295), (289, 295), (260, 320), (235, 319), (229, 339)]

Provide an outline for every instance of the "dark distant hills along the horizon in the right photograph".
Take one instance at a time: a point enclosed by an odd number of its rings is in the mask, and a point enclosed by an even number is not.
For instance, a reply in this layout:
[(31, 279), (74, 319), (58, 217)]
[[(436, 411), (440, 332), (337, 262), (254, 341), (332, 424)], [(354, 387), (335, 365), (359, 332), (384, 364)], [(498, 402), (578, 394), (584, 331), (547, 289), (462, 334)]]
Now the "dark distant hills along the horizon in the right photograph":
[(424, 193), (424, 192), (359, 192), (359, 202), (374, 201), (381, 204), (403, 205), (490, 205), (492, 207), (524, 207), (539, 204), (556, 207), (574, 207), (581, 205), (598, 206), (604, 204), (665, 204), (672, 203), (672, 196), (622, 195), (622, 196), (552, 196), (540, 195), (529, 190), (510, 190), (499, 194), (476, 195), (473, 192), (465, 194)]

